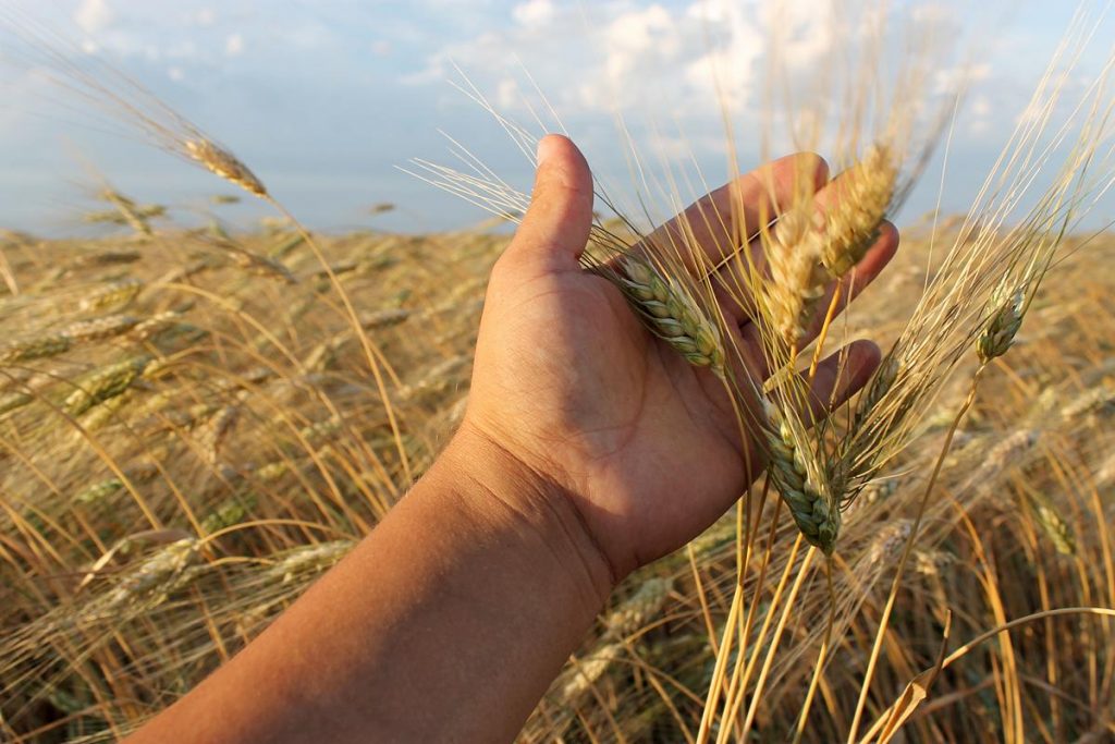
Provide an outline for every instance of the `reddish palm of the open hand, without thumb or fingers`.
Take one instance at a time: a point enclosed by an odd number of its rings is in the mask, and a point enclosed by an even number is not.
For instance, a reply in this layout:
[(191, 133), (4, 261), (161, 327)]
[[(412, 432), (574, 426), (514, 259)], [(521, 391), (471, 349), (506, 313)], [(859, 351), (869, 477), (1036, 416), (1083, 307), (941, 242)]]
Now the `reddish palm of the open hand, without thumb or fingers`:
[[(619, 563), (685, 542), (746, 485), (754, 452), (721, 383), (651, 336), (604, 279), (570, 272), (520, 283), (482, 328), (477, 364), (497, 371), (481, 384), (500, 387), (515, 441), (530, 443), (516, 454), (564, 474), (561, 485), (578, 494), (589, 528), (610, 535)], [(524, 346), (536, 348), (523, 355)], [(525, 389), (524, 379), (533, 380)]]

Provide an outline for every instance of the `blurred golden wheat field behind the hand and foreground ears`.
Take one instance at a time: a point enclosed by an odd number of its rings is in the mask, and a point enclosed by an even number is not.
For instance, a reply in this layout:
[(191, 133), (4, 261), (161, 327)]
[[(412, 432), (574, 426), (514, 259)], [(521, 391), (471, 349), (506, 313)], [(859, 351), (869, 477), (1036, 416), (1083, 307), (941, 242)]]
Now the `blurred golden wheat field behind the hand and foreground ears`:
[[(853, 316), (893, 318), (873, 323), (880, 341), (925, 280), (930, 224), (903, 231)], [(230, 233), (140, 218), (97, 240), (2, 236), (4, 737), (133, 728), (375, 525), (462, 416), (487, 270), (506, 242), (494, 228), (320, 239), (379, 380), (321, 265), (281, 222)], [(938, 231), (956, 238), (948, 220)], [(951, 653), (1032, 612), (1115, 606), (1115, 238), (1070, 240), (1086, 248), (1050, 274), (962, 425), (869, 721), (932, 666), (948, 610)], [(808, 741), (846, 731), (919, 484), (962, 393), (942, 396), (917, 446), (847, 515), (834, 563), (843, 632)], [(736, 580), (736, 518), (624, 582), (523, 741), (692, 740)], [(772, 592), (784, 572), (802, 577), (756, 699), (762, 741), (793, 728), (828, 606), (822, 572), (787, 569), (784, 510), (777, 524), (760, 542), (782, 549), (744, 579)], [(981, 642), (942, 671), (910, 741), (1109, 741), (1112, 624), (1047, 617)], [(773, 630), (757, 617), (750, 642), (770, 645)]]

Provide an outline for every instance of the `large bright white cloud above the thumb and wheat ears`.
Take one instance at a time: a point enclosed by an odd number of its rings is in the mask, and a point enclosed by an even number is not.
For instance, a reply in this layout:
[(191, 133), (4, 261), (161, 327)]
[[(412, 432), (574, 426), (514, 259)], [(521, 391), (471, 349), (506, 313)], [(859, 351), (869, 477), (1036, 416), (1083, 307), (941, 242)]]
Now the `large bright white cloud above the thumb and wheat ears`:
[[(545, 23), (531, 22), (543, 17)], [(471, 39), (442, 47), (404, 81), (443, 86), (442, 105), (464, 107), (467, 99), (444, 85), (460, 81), (459, 68), (497, 113), (535, 134), (563, 123), (582, 143), (598, 134), (602, 142), (601, 123), (620, 115), (626, 135), (657, 141), (651, 152), (723, 154), (726, 114), (740, 153), (816, 149), (851, 158), (842, 104), (872, 75), (878, 84), (863, 103), (861, 134), (882, 131), (894, 100), (902, 102), (895, 110), (909, 114), (914, 139), (928, 132), (959, 74), (948, 49), (923, 50), (919, 35), (930, 27), (940, 35), (948, 23), (937, 8), (915, 23), (909, 7), (885, 16), (838, 13), (816, 0), (601, 0), (590, 7), (529, 0), (513, 21), (487, 23)], [(927, 65), (909, 85), (906, 60)], [(978, 80), (986, 69), (964, 74)], [(993, 131), (999, 109), (977, 115), (973, 128)]]

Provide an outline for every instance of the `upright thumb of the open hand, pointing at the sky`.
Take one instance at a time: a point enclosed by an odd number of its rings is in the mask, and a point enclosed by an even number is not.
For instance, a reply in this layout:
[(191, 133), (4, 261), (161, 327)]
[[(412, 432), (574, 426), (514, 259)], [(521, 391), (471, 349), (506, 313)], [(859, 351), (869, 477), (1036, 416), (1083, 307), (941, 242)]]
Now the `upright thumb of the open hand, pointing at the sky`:
[(592, 226), (592, 174), (569, 138), (539, 142), (531, 205), (507, 248), (515, 261), (551, 271), (578, 269)]

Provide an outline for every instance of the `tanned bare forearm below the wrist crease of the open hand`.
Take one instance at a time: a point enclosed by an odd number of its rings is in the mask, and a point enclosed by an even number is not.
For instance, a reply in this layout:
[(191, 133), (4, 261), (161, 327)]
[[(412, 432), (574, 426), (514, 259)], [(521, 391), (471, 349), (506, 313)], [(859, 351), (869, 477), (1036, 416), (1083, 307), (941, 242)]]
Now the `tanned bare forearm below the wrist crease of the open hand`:
[(610, 577), (551, 486), (475, 445), (136, 741), (511, 741)]

